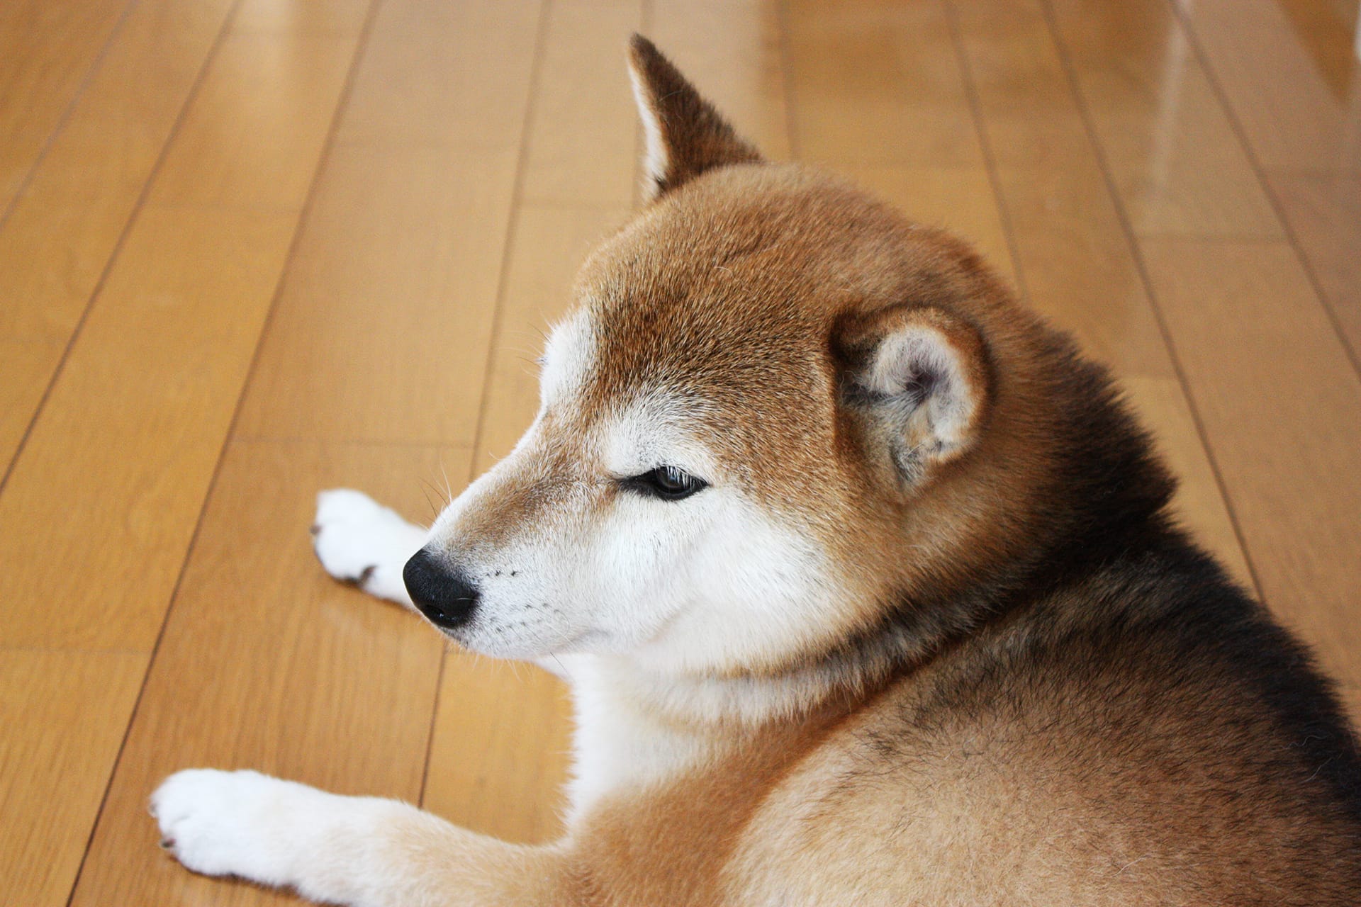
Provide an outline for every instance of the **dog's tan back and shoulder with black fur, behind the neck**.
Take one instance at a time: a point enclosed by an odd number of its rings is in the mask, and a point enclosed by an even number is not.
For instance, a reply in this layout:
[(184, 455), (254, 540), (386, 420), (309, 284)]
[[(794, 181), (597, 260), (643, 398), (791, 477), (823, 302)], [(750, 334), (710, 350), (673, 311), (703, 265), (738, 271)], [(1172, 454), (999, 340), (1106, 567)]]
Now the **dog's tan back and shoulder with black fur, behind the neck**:
[(1262, 605), (1160, 534), (829, 733), (749, 825), (743, 891), (1353, 903), (1361, 760), (1337, 698)]

